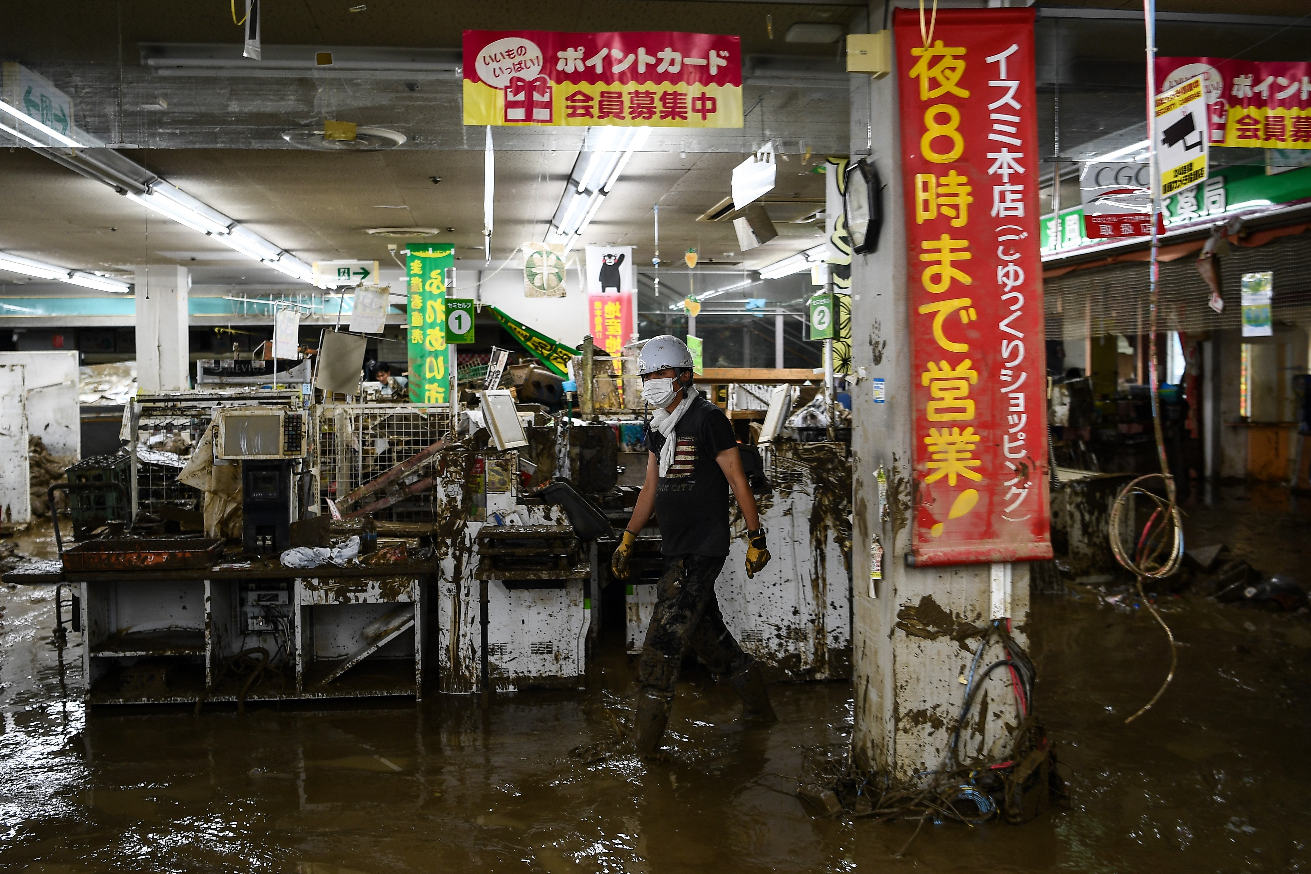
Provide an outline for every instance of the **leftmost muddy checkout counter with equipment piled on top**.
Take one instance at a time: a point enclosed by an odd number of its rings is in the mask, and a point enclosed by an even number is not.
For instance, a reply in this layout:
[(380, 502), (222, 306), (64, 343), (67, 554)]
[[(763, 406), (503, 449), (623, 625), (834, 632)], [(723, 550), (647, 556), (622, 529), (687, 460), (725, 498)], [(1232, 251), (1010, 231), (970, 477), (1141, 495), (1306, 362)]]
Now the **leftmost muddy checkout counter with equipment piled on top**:
[(279, 560), (319, 484), (367, 466), (333, 426), (358, 434), (371, 410), (317, 413), (299, 388), (143, 394), (125, 452), (79, 465), (66, 486), (79, 542), (5, 579), (68, 587), (88, 701), (420, 696), (430, 556), (382, 539), (349, 562)]

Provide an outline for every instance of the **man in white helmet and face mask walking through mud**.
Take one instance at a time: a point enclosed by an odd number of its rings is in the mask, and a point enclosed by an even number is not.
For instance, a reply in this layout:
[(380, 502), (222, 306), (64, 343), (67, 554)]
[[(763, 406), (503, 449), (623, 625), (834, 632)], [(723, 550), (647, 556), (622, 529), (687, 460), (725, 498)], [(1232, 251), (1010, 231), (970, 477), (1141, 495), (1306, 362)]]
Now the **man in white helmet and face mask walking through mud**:
[(637, 664), (637, 752), (659, 748), (674, 705), (674, 684), (691, 646), (742, 697), (743, 714), (773, 722), (755, 659), (724, 626), (714, 579), (729, 554), (729, 489), (747, 527), (747, 577), (770, 561), (755, 498), (742, 470), (733, 426), (692, 385), (692, 355), (676, 337), (646, 341), (637, 360), (642, 398), (656, 413), (646, 431), (646, 480), (615, 550), (615, 577), (628, 577), (637, 532), (659, 520), (665, 573)]

